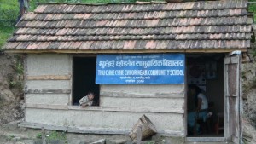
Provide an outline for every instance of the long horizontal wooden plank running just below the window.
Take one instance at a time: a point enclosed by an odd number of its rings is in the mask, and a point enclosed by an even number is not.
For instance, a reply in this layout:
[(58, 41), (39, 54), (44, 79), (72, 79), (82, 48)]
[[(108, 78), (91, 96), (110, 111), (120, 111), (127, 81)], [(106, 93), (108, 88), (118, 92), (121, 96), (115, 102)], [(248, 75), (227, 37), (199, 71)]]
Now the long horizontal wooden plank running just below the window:
[(67, 105), (48, 105), (48, 104), (29, 104), (26, 103), (26, 108), (36, 109), (58, 109), (58, 110), (76, 110), (76, 111), (104, 111), (104, 112), (153, 112), (153, 113), (177, 113), (183, 114), (184, 110), (176, 109), (156, 109), (147, 107), (79, 107)]

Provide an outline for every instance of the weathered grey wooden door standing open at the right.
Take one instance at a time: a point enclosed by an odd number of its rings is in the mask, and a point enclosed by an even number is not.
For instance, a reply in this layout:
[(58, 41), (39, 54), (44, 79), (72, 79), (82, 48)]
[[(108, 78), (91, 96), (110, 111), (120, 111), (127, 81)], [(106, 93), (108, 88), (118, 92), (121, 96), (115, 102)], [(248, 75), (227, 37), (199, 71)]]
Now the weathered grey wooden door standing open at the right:
[(241, 143), (241, 55), (224, 58), (224, 136)]

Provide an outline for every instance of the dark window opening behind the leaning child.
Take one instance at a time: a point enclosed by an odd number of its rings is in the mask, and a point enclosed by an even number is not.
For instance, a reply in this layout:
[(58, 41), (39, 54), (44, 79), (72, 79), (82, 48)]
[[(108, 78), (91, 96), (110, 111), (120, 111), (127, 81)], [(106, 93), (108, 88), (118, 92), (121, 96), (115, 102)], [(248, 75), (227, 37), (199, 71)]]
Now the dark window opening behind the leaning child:
[(99, 106), (99, 84), (95, 84), (96, 57), (73, 58), (73, 105), (89, 92), (95, 94), (93, 106)]

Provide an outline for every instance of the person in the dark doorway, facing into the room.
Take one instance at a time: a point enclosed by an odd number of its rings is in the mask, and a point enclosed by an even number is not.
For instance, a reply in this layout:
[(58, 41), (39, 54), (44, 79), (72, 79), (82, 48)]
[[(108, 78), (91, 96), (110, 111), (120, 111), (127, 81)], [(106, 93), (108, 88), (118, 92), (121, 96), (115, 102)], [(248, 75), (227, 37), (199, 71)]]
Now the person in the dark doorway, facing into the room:
[(201, 119), (203, 123), (207, 121), (208, 101), (207, 96), (195, 84), (189, 84), (189, 95), (193, 96), (195, 100), (195, 111), (188, 113), (188, 131), (189, 134), (196, 135), (200, 133), (200, 125), (197, 124), (197, 119)]

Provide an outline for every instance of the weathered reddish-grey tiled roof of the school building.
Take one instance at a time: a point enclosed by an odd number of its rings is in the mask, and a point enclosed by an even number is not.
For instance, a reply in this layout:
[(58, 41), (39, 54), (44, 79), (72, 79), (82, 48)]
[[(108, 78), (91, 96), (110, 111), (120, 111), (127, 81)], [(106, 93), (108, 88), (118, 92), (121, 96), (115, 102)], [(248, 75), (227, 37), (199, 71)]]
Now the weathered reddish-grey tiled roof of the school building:
[(247, 1), (39, 5), (6, 50), (247, 49)]

